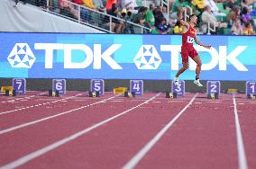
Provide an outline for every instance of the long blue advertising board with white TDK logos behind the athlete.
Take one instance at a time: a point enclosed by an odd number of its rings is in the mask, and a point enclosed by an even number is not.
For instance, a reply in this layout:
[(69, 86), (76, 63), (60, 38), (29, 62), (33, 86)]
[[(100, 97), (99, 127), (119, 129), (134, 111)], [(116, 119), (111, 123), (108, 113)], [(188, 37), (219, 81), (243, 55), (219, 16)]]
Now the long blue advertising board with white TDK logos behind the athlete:
[[(201, 80), (256, 80), (255, 36), (198, 36)], [(180, 35), (0, 33), (0, 77), (169, 80)], [(180, 79), (195, 78), (190, 65)]]

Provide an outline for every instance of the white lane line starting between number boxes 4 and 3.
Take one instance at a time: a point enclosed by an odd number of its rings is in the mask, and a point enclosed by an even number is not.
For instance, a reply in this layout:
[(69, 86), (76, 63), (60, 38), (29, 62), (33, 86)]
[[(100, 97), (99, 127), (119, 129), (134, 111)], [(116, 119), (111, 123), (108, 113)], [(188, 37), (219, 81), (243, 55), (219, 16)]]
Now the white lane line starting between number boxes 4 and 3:
[[(153, 97), (151, 97), (150, 99), (148, 99), (145, 102), (151, 102), (151, 100), (153, 100), (154, 98), (156, 98), (159, 95), (160, 95), (160, 93), (157, 93), (156, 95), (154, 95)], [(68, 143), (68, 142), (70, 142), (70, 141), (72, 141), (72, 140), (74, 140), (74, 139), (76, 139), (76, 138), (86, 134), (87, 132), (89, 132), (89, 131), (91, 131), (93, 129), (96, 129), (96, 128), (104, 125), (105, 123), (107, 123), (107, 122), (109, 122), (111, 120), (114, 120), (114, 119), (122, 116), (123, 114), (125, 114), (125, 113), (127, 113), (129, 111), (133, 111), (134, 109), (136, 109), (136, 108), (142, 106), (143, 104), (145, 104), (145, 102), (142, 102), (141, 104), (138, 104), (137, 106), (134, 106), (133, 108), (131, 108), (131, 109), (127, 110), (127, 111), (123, 111), (123, 112), (121, 112), (121, 113), (119, 113), (117, 115), (114, 115), (111, 118), (108, 118), (106, 120), (98, 122), (95, 125), (87, 128), (87, 129), (83, 129), (83, 130), (81, 130), (81, 131), (79, 131), (79, 132), (77, 132), (77, 133), (75, 133), (75, 134), (73, 134), (73, 135), (71, 135), (71, 136), (69, 136), (67, 138), (60, 139), (59, 141), (57, 141), (57, 142), (55, 142), (55, 143), (53, 143), (53, 144), (51, 144), (51, 145), (49, 145), (47, 147), (42, 147), (41, 149), (39, 149), (37, 151), (34, 151), (34, 152), (32, 152), (31, 154), (29, 154), (27, 156), (23, 156), (23, 157), (15, 160), (14, 162), (11, 162), (11, 163), (9, 163), (7, 165), (4, 165), (4, 166), (0, 167), (0, 169), (9, 169), (9, 168), (18, 167), (20, 165), (24, 165), (25, 163), (31, 161), (32, 159), (34, 159), (36, 157), (42, 156), (42, 155), (48, 153), (49, 151), (51, 151), (51, 150), (53, 150), (53, 149), (55, 149), (57, 147), (60, 147), (60, 146), (62, 146), (64, 144), (66, 144), (66, 143)]]

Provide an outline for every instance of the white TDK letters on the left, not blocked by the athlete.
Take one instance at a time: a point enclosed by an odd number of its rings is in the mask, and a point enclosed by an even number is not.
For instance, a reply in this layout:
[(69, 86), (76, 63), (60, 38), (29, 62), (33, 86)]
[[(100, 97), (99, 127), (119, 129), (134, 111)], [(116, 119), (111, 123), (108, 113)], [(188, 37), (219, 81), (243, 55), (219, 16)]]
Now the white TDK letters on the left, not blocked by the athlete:
[[(101, 59), (113, 69), (123, 69), (118, 65), (111, 55), (119, 49), (121, 44), (113, 44), (103, 53), (100, 44), (94, 44), (94, 49), (90, 49), (84, 44), (60, 44), (60, 43), (35, 43), (34, 49), (45, 50), (45, 68), (52, 68), (53, 51), (64, 50), (64, 68), (86, 68), (93, 63), (94, 69), (101, 69)], [(87, 56), (85, 60), (79, 63), (72, 62), (72, 50), (81, 50)]]

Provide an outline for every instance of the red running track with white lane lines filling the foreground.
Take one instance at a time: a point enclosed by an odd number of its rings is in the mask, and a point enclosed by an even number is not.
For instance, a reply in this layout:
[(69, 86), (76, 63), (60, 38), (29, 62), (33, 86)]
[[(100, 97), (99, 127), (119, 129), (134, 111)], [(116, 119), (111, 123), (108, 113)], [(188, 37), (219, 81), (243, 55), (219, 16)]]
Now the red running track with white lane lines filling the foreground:
[[(100, 102), (0, 134), (0, 166), (10, 163), (22, 168), (121, 168), (125, 164), (129, 166), (128, 162), (131, 162), (130, 160), (142, 151), (161, 129), (167, 127), (169, 121), (178, 117), (155, 144), (144, 151), (143, 156), (137, 158), (139, 160), (135, 165), (130, 166), (239, 168), (237, 126), (231, 95), (223, 94), (220, 100), (209, 101), (204, 94), (197, 95), (193, 100), (195, 93), (187, 93), (184, 98), (168, 100), (161, 93), (153, 100), (145, 102), (155, 94), (145, 93), (142, 98), (135, 99), (118, 97), (105, 102), (100, 101), (111, 97), (112, 94), (106, 94), (105, 98), (83, 98), (84, 101), (76, 97), (69, 102), (56, 102), (56, 105), (60, 104), (59, 107), (55, 107), (55, 103), (50, 104), (51, 109), (47, 112), (46, 108), (41, 106), (23, 113), (21, 111), (0, 115), (0, 120), (3, 118), (3, 121), (7, 121), (1, 127), (3, 130)], [(253, 110), (256, 103), (244, 99), (244, 95), (241, 97), (235, 101), (246, 165), (255, 168), (256, 137), (253, 133), (256, 129), (256, 115)], [(191, 100), (193, 102), (188, 106)], [(180, 112), (182, 113), (178, 116)], [(12, 117), (9, 116), (11, 114)], [(111, 117), (114, 119), (109, 120)], [(104, 120), (106, 121), (102, 122)], [(79, 131), (84, 133), (79, 134)], [(72, 135), (74, 138), (69, 138)], [(60, 140), (63, 142), (58, 142)], [(52, 145), (53, 143), (56, 144)]]

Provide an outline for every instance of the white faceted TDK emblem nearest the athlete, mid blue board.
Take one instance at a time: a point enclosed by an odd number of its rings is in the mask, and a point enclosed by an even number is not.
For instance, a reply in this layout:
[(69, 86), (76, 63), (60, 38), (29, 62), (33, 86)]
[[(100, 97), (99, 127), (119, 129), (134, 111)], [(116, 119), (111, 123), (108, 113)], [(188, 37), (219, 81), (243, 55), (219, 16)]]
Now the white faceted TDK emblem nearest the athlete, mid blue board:
[(153, 45), (143, 45), (133, 61), (138, 69), (157, 69), (161, 58)]

